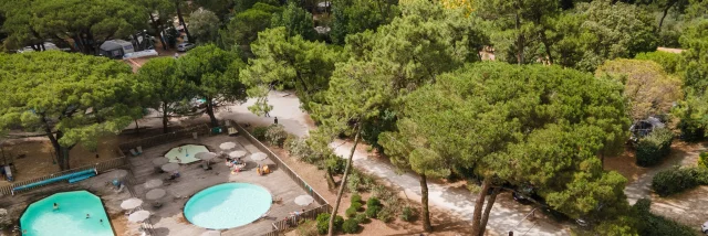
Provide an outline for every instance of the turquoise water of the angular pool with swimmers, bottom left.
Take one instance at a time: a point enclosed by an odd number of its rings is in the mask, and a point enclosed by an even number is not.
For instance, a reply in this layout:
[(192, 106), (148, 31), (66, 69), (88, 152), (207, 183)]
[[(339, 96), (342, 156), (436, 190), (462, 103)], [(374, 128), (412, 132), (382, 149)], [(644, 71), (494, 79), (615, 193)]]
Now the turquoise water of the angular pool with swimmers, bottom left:
[(56, 193), (30, 204), (20, 226), (27, 230), (23, 236), (114, 236), (101, 199), (86, 191)]

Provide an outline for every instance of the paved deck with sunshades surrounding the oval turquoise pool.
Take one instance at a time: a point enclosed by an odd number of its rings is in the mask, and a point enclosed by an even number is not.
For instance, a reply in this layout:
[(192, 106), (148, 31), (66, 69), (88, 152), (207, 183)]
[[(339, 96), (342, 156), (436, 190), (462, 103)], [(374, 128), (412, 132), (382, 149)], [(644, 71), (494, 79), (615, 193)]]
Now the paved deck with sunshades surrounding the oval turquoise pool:
[[(260, 151), (243, 137), (219, 135), (200, 137), (197, 140), (184, 139), (181, 141), (157, 146), (143, 150), (144, 153), (142, 155), (129, 158), (129, 169), (132, 170), (135, 183), (133, 186), (135, 195), (144, 199), (148, 190), (144, 187), (143, 183), (150, 179), (165, 179), (168, 175), (167, 173), (155, 172), (155, 168), (150, 162), (153, 158), (160, 157), (169, 149), (180, 144), (205, 144), (209, 150), (218, 153), (220, 151), (218, 148), (219, 144), (227, 141), (237, 142), (237, 147), (233, 150), (244, 150), (249, 154)], [(149, 221), (153, 224), (155, 235), (196, 236), (206, 232), (206, 228), (192, 225), (184, 218), (183, 207), (189, 196), (220, 183), (244, 182), (258, 184), (270, 191), (274, 200), (283, 200), (279, 204), (271, 205), (268, 217), (237, 228), (225, 229), (221, 232), (221, 235), (262, 235), (272, 230), (271, 223), (275, 222), (275, 219), (282, 219), (294, 211), (302, 208), (310, 210), (319, 206), (316, 203), (306, 207), (296, 205), (293, 200), (299, 195), (306, 194), (305, 191), (298, 186), (284, 172), (274, 169), (273, 162), (270, 159), (266, 159), (260, 163), (270, 164), (270, 167), (273, 168), (273, 172), (263, 176), (258, 175), (256, 173), (256, 167), (259, 162), (248, 157), (249, 155), (243, 159), (248, 164), (247, 170), (238, 174), (231, 174), (222, 159), (215, 159), (215, 161), (212, 161), (215, 163), (211, 164), (212, 170), (208, 171), (201, 168), (201, 162), (180, 164), (179, 173), (181, 176), (175, 182), (165, 181), (165, 184), (162, 186), (162, 189), (167, 191), (167, 195), (160, 200), (164, 205), (160, 208), (153, 208), (147, 203), (143, 205), (144, 210), (153, 213)], [(128, 223), (128, 227), (137, 230), (139, 225)]]

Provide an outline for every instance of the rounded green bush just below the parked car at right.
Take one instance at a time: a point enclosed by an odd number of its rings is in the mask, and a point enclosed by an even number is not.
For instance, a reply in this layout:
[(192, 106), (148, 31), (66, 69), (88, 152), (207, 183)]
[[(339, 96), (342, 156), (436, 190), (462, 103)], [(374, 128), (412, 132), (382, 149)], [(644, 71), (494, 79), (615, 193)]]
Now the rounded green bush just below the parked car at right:
[(637, 144), (637, 165), (652, 167), (668, 155), (671, 151), (674, 133), (668, 129), (655, 129), (648, 136), (642, 138)]

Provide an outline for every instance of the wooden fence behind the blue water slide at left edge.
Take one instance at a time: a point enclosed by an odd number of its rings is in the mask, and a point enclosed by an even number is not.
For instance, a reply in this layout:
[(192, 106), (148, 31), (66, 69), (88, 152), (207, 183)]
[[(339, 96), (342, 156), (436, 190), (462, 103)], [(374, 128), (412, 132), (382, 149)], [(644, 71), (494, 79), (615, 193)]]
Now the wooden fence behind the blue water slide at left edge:
[[(61, 172), (53, 173), (53, 174), (45, 175), (45, 176), (41, 176), (41, 178), (35, 178), (35, 179), (32, 179), (32, 180), (19, 181), (19, 182), (15, 182), (15, 183), (13, 183), (13, 184), (11, 184), (9, 186), (0, 187), (0, 194), (10, 195), (10, 194), (12, 194), (12, 189), (14, 189), (17, 186), (22, 186), (22, 185), (27, 185), (27, 184), (31, 184), (31, 183), (37, 183), (37, 182), (49, 180), (49, 179), (52, 179), (52, 178), (63, 176), (63, 175), (71, 174), (71, 173), (74, 173), (74, 172), (77, 172), (77, 171), (96, 169), (96, 171), (98, 173), (103, 173), (103, 172), (106, 172), (108, 170), (113, 170), (113, 169), (117, 169), (117, 168), (124, 167), (127, 163), (128, 163), (127, 159), (125, 157), (121, 157), (121, 158), (115, 158), (115, 159), (111, 159), (111, 160), (107, 160), (107, 161), (97, 162), (97, 163), (94, 163), (94, 164), (84, 165), (84, 167), (81, 167), (81, 168), (74, 168), (74, 169), (61, 171)], [(52, 183), (41, 184), (41, 185), (38, 185), (38, 186), (24, 189), (24, 190), (21, 190), (21, 191), (33, 190), (33, 189), (45, 186), (45, 185), (49, 185), (49, 184), (52, 184)]]

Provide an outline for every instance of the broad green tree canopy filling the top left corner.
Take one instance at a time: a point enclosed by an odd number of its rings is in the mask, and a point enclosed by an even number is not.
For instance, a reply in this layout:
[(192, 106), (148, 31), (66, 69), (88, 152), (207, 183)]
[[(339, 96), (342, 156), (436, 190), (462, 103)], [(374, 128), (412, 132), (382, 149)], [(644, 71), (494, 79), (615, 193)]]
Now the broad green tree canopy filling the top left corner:
[[(0, 3), (8, 19), (8, 49), (54, 40), (76, 52), (97, 54), (101, 44), (146, 29), (147, 11), (128, 0), (8, 0)], [(74, 44), (74, 42), (76, 44)]]

